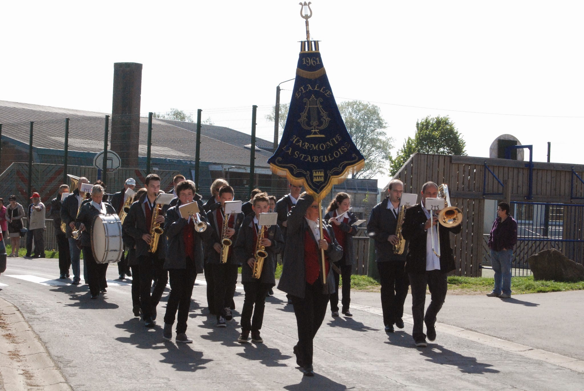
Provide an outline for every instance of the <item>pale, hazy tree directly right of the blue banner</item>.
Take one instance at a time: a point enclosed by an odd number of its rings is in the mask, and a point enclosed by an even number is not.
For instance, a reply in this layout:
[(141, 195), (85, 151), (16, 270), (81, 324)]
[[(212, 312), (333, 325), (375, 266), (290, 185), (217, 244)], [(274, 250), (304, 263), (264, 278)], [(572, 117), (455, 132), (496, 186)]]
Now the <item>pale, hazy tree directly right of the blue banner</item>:
[(391, 162), (394, 139), (385, 132), (387, 123), (381, 117), (379, 107), (367, 102), (347, 101), (339, 104), (339, 111), (353, 143), (365, 158), (365, 167), (353, 178), (369, 179), (384, 174)]

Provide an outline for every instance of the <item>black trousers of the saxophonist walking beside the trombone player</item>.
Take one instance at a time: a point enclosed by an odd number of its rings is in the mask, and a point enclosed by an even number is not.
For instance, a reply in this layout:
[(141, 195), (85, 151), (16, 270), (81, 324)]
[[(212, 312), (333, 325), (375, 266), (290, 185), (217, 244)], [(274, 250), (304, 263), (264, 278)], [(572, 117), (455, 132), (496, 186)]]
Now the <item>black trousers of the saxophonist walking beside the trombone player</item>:
[(394, 324), (404, 316), (404, 302), (408, 296), (409, 278), (405, 261), (377, 262), (381, 282), (381, 309), (383, 324)]

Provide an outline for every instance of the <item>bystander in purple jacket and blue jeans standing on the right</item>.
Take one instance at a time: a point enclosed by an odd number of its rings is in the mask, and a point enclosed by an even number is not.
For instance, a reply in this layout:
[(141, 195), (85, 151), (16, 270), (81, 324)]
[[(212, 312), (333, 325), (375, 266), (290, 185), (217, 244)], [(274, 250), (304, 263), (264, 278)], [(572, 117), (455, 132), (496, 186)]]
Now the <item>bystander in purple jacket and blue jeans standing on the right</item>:
[(499, 202), (497, 217), (489, 235), (491, 265), (495, 271), (495, 287), (489, 297), (511, 297), (511, 264), (513, 248), (517, 243), (517, 222), (509, 216), (509, 204)]

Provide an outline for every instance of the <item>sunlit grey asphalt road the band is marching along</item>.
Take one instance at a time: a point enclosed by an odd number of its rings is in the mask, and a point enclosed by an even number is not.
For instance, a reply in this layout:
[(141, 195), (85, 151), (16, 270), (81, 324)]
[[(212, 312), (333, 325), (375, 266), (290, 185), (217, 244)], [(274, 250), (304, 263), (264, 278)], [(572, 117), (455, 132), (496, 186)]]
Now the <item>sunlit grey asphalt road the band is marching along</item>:
[[(161, 326), (148, 330), (133, 317), (130, 285), (110, 283), (105, 298), (89, 300), (87, 285), (51, 281), (57, 277), (56, 260), (9, 258), (0, 295), (19, 307), (74, 390), (567, 390), (584, 385), (583, 373), (446, 333), (439, 332), (429, 347), (416, 348), (411, 324), (386, 334), (378, 314), (359, 309), (352, 319), (325, 317), (315, 339), (316, 376), (305, 378), (292, 352), (296, 319), (281, 292), (266, 303), (265, 343), (241, 345), (235, 340), (243, 290), (236, 292), (234, 320), (217, 328), (215, 318), (207, 316), (206, 289), (199, 281), (187, 330), (194, 343), (177, 345), (162, 339)], [(115, 266), (108, 278), (117, 278)], [(453, 309), (452, 297), (444, 313)], [(159, 324), (166, 295), (162, 300)], [(353, 303), (380, 307), (378, 293), (356, 293)], [(445, 323), (440, 315), (439, 321)]]

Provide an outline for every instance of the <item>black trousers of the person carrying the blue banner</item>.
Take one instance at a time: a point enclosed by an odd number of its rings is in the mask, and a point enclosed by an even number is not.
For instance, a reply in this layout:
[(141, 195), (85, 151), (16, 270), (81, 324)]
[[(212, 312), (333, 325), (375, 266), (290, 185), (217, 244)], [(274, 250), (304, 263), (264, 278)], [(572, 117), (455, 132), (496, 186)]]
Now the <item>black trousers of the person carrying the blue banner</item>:
[(298, 357), (304, 366), (312, 365), (312, 341), (317, 335), (318, 328), (321, 327), (325, 319), (326, 305), (329, 302), (329, 294), (322, 293), (322, 281), (319, 277), (314, 284), (306, 283), (304, 299), (290, 295), (296, 315), (298, 327), (298, 343), (296, 348)]

